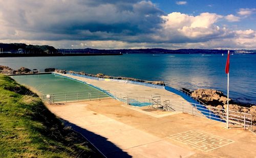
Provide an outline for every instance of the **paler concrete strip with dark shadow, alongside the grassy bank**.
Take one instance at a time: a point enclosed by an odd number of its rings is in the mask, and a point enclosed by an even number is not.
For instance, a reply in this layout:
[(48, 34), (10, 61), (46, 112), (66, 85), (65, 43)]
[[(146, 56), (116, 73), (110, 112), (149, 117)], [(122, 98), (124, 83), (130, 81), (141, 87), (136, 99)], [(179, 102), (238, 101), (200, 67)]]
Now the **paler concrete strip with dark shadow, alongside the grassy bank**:
[[(106, 104), (120, 105), (113, 99), (103, 100), (106, 101)], [(48, 105), (48, 108), (68, 121), (107, 157), (187, 157), (194, 154), (150, 133), (88, 110), (88, 103), (102, 102)]]

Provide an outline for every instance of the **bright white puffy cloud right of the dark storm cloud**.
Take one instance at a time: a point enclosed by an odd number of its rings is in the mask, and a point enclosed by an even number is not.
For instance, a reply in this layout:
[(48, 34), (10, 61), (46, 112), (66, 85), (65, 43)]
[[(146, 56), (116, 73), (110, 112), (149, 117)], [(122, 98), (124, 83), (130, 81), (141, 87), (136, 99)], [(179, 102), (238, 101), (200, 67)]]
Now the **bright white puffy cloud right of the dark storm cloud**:
[[(199, 42), (225, 36), (225, 29), (214, 25), (223, 16), (215, 13), (201, 13), (198, 16), (173, 12), (162, 16), (165, 22), (157, 37), (171, 42)], [(163, 38), (164, 37), (164, 38)]]

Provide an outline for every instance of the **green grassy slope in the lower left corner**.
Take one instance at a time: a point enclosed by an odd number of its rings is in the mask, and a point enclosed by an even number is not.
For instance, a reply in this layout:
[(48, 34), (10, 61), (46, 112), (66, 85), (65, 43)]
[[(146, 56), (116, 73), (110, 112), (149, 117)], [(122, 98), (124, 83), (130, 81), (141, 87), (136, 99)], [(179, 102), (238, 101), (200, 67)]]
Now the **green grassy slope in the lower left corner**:
[(101, 157), (36, 94), (0, 74), (0, 157)]

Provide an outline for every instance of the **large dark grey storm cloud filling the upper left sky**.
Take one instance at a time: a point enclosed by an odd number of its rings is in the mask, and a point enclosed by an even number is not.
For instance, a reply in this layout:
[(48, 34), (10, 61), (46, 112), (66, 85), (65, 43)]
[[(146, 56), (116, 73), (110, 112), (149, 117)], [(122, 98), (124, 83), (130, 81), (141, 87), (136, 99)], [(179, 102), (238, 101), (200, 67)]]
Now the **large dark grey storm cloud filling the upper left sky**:
[[(148, 1), (8, 1), (0, 3), (2, 20), (15, 34), (34, 40), (123, 40), (152, 33), (163, 14)], [(3, 38), (3, 37), (2, 37)]]

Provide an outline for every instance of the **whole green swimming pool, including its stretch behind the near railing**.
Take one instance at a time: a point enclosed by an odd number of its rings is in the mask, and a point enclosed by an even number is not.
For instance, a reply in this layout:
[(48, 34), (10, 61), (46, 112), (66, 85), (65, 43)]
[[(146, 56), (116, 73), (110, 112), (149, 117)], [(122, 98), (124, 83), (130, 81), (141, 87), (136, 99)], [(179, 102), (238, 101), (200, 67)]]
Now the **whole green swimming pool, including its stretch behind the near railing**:
[(12, 76), (18, 83), (32, 87), (44, 96), (51, 96), (52, 102), (91, 100), (110, 97), (107, 92), (89, 84), (55, 74)]

